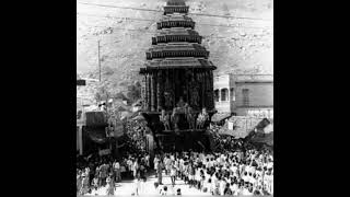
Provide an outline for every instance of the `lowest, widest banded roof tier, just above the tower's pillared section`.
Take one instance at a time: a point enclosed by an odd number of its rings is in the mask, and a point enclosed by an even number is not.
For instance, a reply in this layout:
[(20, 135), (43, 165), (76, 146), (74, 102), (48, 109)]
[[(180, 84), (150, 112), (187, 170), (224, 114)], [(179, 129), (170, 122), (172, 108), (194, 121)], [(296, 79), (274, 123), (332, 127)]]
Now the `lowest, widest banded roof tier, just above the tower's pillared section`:
[(201, 57), (207, 59), (209, 51), (199, 44), (172, 43), (153, 45), (153, 47), (145, 53), (148, 60), (167, 57)]

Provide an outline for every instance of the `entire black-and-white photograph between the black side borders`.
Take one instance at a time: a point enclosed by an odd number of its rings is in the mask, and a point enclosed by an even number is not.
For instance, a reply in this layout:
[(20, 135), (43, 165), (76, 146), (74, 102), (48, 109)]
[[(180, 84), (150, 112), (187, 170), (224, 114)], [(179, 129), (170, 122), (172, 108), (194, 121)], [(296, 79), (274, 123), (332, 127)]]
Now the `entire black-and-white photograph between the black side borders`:
[(77, 196), (273, 196), (273, 0), (77, 0), (75, 170)]

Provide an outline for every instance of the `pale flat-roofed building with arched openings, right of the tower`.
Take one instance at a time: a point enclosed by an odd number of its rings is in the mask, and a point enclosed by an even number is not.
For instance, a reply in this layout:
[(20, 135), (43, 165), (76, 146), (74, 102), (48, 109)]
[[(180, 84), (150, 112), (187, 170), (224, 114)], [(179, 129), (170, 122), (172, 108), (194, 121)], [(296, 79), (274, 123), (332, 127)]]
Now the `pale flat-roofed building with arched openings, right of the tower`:
[(219, 113), (273, 118), (273, 76), (218, 76), (214, 78), (214, 97)]

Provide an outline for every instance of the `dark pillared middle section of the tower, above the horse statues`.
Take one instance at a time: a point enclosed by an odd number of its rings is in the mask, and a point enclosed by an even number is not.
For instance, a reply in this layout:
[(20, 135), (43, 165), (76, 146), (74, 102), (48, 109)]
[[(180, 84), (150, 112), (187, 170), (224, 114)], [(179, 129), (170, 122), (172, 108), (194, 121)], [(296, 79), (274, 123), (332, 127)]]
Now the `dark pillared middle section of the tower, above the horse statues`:
[[(198, 59), (196, 59), (197, 62)], [(202, 59), (203, 60), (203, 59)], [(163, 60), (167, 61), (167, 59)], [(208, 60), (203, 60), (211, 63)], [(196, 116), (206, 108), (207, 113), (214, 113), (212, 70), (214, 66), (203, 66), (188, 62), (179, 67), (178, 61), (171, 67), (153, 66), (141, 68), (140, 73), (144, 74), (144, 104), (142, 111), (147, 114), (160, 113), (164, 109), (165, 114), (174, 112), (186, 114), (190, 107)], [(178, 109), (180, 107), (180, 109)], [(154, 113), (149, 113), (154, 112)], [(156, 113), (154, 114), (156, 115)]]

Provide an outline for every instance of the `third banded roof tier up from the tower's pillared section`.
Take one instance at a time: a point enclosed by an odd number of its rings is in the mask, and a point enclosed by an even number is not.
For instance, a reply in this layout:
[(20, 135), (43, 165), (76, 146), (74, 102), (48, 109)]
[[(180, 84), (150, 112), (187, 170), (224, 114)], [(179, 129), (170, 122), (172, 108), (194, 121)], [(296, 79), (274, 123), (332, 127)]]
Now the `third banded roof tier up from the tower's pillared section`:
[(171, 27), (190, 27), (195, 28), (195, 22), (192, 19), (188, 18), (187, 15), (182, 15), (182, 14), (168, 14), (168, 15), (163, 15), (161, 22), (156, 23), (156, 28), (162, 30), (162, 28), (171, 28)]

